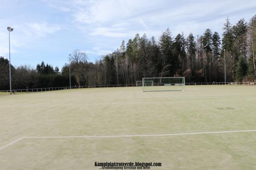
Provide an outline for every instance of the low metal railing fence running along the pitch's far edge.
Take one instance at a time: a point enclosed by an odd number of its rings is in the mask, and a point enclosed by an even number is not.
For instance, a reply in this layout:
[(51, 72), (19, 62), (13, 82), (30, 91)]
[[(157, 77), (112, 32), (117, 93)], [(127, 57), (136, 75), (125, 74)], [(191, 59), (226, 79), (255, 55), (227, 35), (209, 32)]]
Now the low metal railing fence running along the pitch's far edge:
[[(158, 83), (154, 83), (154, 86), (158, 86)], [(185, 85), (255, 85), (256, 82), (187, 82)], [(71, 89), (76, 88), (113, 88), (113, 87), (136, 87), (137, 84), (128, 85), (89, 85), (89, 86), (71, 86)], [(142, 86), (142, 85), (141, 85)], [(12, 90), (14, 94), (20, 93), (32, 93), (32, 92), (43, 92), (43, 91), (58, 91), (58, 90), (68, 90), (70, 86), (67, 87), (56, 87), (56, 88), (29, 88), (29, 89), (17, 89)], [(0, 95), (8, 95), (10, 90), (0, 91)]]

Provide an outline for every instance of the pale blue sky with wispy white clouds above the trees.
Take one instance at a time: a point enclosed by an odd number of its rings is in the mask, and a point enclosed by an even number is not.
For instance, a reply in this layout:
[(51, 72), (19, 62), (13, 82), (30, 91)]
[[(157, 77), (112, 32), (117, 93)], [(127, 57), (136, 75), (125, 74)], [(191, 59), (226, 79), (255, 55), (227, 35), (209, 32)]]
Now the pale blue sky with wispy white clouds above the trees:
[(79, 49), (94, 62), (135, 34), (157, 39), (169, 28), (201, 35), (222, 34), (227, 17), (234, 25), (256, 14), (256, 0), (0, 0), (0, 56), (15, 67), (44, 61), (61, 68)]

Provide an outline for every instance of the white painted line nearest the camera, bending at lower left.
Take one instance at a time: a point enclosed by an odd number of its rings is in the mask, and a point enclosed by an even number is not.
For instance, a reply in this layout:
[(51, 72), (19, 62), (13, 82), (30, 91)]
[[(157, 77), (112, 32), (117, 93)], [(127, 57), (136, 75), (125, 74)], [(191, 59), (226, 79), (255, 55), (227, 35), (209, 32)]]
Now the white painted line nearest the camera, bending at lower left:
[(0, 147), (3, 150), (6, 147), (15, 144), (22, 139), (64, 139), (64, 138), (119, 138), (119, 137), (147, 137), (147, 136), (182, 136), (182, 135), (198, 135), (198, 134), (215, 134), (215, 133), (239, 133), (239, 132), (256, 132), (256, 130), (232, 130), (232, 131), (216, 131), (216, 132), (195, 132), (195, 133), (171, 133), (171, 134), (155, 134), (155, 135), (115, 135), (115, 136), (26, 136)]

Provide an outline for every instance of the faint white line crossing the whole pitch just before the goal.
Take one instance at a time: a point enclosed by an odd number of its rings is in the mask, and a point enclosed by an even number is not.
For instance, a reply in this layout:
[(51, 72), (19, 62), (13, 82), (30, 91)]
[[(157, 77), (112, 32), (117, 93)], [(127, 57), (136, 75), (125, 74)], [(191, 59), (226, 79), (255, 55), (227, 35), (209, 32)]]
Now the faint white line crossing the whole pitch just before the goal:
[[(256, 100), (253, 99), (242, 99), (242, 100)], [(174, 103), (174, 102), (211, 102), (211, 101), (241, 101), (241, 99), (213, 99), (213, 100), (178, 100), (178, 101), (160, 101), (160, 102), (140, 102), (143, 100), (132, 100), (132, 101), (125, 101), (125, 102), (113, 102), (113, 103), (83, 103), (83, 104), (66, 104), (66, 105), (2, 105), (0, 107), (45, 107), (45, 106), (83, 106), (83, 105), (117, 105), (122, 103), (130, 103), (136, 102), (140, 104), (148, 104), (148, 103)]]

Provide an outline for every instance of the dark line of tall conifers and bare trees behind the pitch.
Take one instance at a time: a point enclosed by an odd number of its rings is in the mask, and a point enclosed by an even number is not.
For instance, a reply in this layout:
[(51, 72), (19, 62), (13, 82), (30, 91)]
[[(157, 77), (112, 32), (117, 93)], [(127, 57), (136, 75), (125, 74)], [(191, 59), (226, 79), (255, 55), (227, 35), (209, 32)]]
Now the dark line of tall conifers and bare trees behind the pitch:
[[(136, 84), (143, 77), (186, 77), (186, 82), (256, 81), (256, 15), (248, 23), (241, 19), (234, 26), (229, 18), (220, 35), (206, 29), (202, 35), (183, 33), (173, 37), (169, 28), (148, 38), (136, 34), (113, 53), (88, 62), (87, 55), (75, 50), (70, 64), (61, 70), (41, 62), (36, 68), (12, 67), (12, 86), (46, 88), (72, 85)], [(224, 60), (225, 58), (225, 60)], [(0, 89), (9, 89), (9, 61), (0, 57)]]

